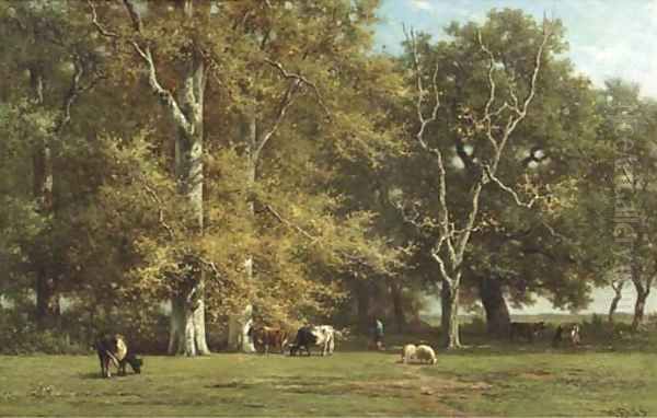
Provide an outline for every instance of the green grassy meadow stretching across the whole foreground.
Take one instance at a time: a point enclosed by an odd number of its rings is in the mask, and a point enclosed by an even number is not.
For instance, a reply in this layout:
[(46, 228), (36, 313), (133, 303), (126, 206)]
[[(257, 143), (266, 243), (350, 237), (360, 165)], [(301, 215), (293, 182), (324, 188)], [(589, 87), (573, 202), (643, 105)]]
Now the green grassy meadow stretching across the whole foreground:
[(0, 415), (641, 416), (657, 415), (657, 355), (554, 351), (544, 345), (327, 358), (218, 353), (147, 357), (140, 375), (104, 380), (92, 356), (0, 357)]

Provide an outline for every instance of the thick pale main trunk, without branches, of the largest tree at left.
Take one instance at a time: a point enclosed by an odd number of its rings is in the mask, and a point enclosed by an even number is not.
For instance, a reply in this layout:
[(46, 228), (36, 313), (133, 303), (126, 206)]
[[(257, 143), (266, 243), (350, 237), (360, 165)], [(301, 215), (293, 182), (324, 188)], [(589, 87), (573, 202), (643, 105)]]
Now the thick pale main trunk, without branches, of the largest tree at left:
[[(189, 223), (203, 235), (203, 105), (205, 93), (205, 65), (197, 55), (191, 58), (183, 89), (181, 111), (188, 126), (178, 126), (175, 141), (175, 176), (177, 190), (185, 197), (189, 209)], [(198, 262), (184, 262), (189, 272), (184, 286), (171, 301), (171, 329), (169, 353), (186, 356), (209, 355), (205, 330), (204, 272)]]

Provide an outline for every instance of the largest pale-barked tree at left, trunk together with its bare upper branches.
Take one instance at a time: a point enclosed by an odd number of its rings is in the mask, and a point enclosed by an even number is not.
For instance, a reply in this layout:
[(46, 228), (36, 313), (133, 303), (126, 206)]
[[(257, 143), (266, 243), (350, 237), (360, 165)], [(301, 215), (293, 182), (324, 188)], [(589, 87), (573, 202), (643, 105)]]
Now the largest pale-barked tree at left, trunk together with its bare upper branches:
[[(185, 198), (187, 208), (188, 231), (191, 234), (203, 235), (204, 231), (204, 100), (207, 83), (206, 46), (204, 37), (199, 35), (195, 23), (209, 19), (211, 7), (193, 0), (163, 4), (169, 11), (176, 13), (176, 19), (171, 19), (184, 30), (182, 34), (172, 37), (170, 44), (160, 45), (162, 50), (168, 47), (171, 54), (177, 55), (182, 67), (177, 85), (177, 97), (172, 90), (163, 86), (161, 73), (155, 66), (152, 50), (158, 45), (154, 34), (164, 27), (145, 28), (142, 20), (142, 3), (130, 0), (124, 1), (125, 21), (129, 28), (122, 33), (107, 30), (99, 21), (96, 5), (89, 1), (92, 22), (99, 33), (107, 38), (127, 43), (141, 61), (148, 77), (148, 85), (158, 97), (175, 126), (175, 178), (177, 190)], [(146, 9), (150, 16), (157, 19), (161, 13), (159, 8), (149, 3)], [(173, 9), (173, 10), (172, 10)], [(153, 23), (155, 26), (155, 23)], [(131, 32), (131, 33), (130, 33)], [(171, 59), (171, 58), (170, 58)], [(171, 299), (171, 329), (169, 352), (185, 353), (187, 356), (207, 355), (209, 349), (206, 341), (205, 328), (205, 299), (204, 299), (204, 269), (195, 265), (194, 257), (182, 256), (181, 263), (186, 265), (183, 270), (185, 276), (180, 280), (180, 286), (174, 290)]]

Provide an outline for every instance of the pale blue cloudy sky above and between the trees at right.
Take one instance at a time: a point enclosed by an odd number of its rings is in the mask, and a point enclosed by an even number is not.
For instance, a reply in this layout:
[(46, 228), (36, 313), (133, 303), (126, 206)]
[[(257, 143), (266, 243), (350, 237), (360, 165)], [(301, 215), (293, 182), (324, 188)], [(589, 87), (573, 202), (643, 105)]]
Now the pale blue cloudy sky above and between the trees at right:
[[(452, 21), (483, 22), (491, 9), (522, 9), (538, 21), (561, 19), (569, 44), (568, 58), (596, 86), (622, 78), (639, 85), (644, 96), (657, 98), (657, 0), (382, 0), (377, 26), (378, 50), (396, 54), (404, 34), (402, 25), (446, 38), (443, 27)], [(647, 312), (657, 311), (657, 291), (648, 298)], [(635, 299), (627, 286), (620, 312), (632, 312)], [(584, 313), (604, 313), (611, 289), (596, 289)], [(434, 305), (434, 307), (436, 307)], [(514, 313), (554, 311), (546, 300)]]

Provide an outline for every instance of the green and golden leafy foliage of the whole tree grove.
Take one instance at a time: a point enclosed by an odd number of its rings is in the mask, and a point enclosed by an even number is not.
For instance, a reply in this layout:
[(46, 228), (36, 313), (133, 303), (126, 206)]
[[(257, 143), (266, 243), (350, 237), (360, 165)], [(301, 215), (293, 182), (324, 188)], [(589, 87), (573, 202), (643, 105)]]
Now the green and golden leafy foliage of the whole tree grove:
[[(187, 285), (191, 268), (205, 275), (214, 329), (246, 301), (270, 322), (339, 313), (348, 323), (362, 289), (387, 315), (393, 288), (406, 315), (418, 311), (423, 293), (436, 292), (427, 249), (440, 214), (437, 172), (408, 140), (417, 128), (410, 121), (416, 118), (410, 51), (372, 53), (378, 1), (196, 1), (191, 16), (183, 2), (140, 2), (139, 33), (123, 3), (92, 4), (110, 38), (93, 24), (88, 2), (0, 2), (4, 300), (28, 312), (38, 271), (48, 267), (57, 295), (80, 313), (70, 324), (73, 338), (115, 324), (157, 350), (165, 345), (163, 303)], [(527, 210), (493, 183), (484, 187), (465, 254), (466, 304), (481, 277), (500, 280), (517, 306), (543, 295), (566, 309), (586, 306), (592, 287), (611, 279), (618, 259), (613, 246), (599, 243), (613, 236), (612, 160), (623, 107), (636, 111), (633, 155), (646, 190), (653, 187), (655, 104), (620, 81), (595, 91), (563, 58), (562, 23), (552, 28), (537, 96), (497, 172), (523, 200), (543, 197)], [(494, 152), (485, 129), (472, 124), (488, 100), (489, 57), (479, 34), (496, 62), (498, 108), (514, 102), (511, 91), (520, 100), (528, 94), (520, 74), (531, 72), (542, 33), (539, 22), (509, 9), (446, 33), (445, 40), (423, 34), (417, 40), (426, 85), (439, 69), (442, 107), (427, 138), (446, 156), (458, 227), (481, 175), (474, 159)], [(191, 59), (200, 55), (206, 65), (203, 235), (191, 225), (174, 174), (177, 127), (151, 94), (132, 42), (151, 46), (158, 80), (173, 97), (184, 90), (181, 74)], [(295, 86), (295, 77), (304, 82)], [(270, 133), (257, 158), (252, 120), (256, 139)], [(54, 173), (49, 209), (35, 190), (34, 156), (45, 148)], [(646, 214), (636, 253), (645, 278), (654, 269), (656, 201), (636, 189), (622, 197)], [(425, 229), (410, 228), (400, 206), (412, 208)], [(247, 257), (255, 265), (251, 281)], [(67, 350), (59, 337), (37, 340), (25, 329), (11, 334), (25, 341), (16, 350)]]

